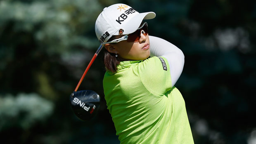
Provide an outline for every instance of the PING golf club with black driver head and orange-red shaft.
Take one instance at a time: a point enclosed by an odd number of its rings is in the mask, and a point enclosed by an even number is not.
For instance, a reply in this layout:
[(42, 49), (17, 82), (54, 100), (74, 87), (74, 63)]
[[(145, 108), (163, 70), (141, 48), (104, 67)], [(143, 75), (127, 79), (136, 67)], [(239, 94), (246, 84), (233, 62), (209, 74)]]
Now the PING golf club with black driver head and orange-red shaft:
[(90, 63), (85, 69), (83, 76), (81, 77), (78, 84), (76, 85), (76, 89), (69, 97), (73, 112), (80, 120), (83, 120), (83, 121), (90, 120), (97, 113), (100, 107), (100, 95), (92, 90), (80, 90), (80, 91), (77, 91), (77, 90), (80, 84), (82, 83), (86, 73), (88, 72), (90, 66), (92, 65), (93, 61), (96, 59), (97, 55), (100, 53), (100, 50), (102, 50), (102, 47), (103, 46), (100, 45), (100, 47), (95, 52)]

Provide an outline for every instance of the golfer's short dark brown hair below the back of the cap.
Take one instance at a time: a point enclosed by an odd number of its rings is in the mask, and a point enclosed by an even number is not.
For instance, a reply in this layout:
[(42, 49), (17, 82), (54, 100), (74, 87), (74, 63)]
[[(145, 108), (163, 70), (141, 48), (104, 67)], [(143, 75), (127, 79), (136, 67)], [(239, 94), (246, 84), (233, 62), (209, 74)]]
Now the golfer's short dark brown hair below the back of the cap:
[[(109, 41), (114, 40), (115, 36), (113, 35), (111, 38), (109, 38)], [(104, 49), (104, 64), (105, 68), (108, 71), (111, 71), (112, 73), (116, 73), (116, 66), (120, 64), (120, 61), (118, 57), (116, 57), (116, 54), (108, 52), (106, 49)]]

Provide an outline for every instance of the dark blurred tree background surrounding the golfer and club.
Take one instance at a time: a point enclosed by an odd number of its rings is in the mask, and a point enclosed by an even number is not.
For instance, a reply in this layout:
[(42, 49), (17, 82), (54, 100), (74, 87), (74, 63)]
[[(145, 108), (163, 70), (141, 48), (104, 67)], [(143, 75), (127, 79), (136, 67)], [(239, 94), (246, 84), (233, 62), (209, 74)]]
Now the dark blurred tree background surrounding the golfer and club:
[(149, 34), (185, 54), (176, 87), (194, 142), (256, 144), (255, 0), (0, 0), (2, 142), (119, 143), (104, 101), (102, 54), (78, 89), (100, 94), (98, 115), (83, 122), (69, 104), (100, 44), (97, 16), (115, 3), (155, 12)]

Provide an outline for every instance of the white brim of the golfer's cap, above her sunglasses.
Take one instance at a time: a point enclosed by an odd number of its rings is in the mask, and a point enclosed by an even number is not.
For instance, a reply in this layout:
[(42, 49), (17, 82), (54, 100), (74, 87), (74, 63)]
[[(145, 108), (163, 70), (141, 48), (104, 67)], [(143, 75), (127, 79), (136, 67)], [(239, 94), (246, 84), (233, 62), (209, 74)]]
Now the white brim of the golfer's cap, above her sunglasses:
[[(135, 17), (129, 20), (126, 25), (123, 26), (124, 31), (123, 35), (135, 32), (139, 27), (143, 19), (154, 19), (156, 14), (154, 12), (144, 12), (139, 13)], [(114, 35), (118, 35), (119, 31), (117, 31)]]

